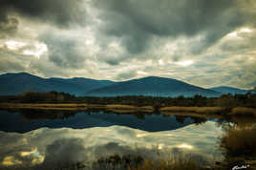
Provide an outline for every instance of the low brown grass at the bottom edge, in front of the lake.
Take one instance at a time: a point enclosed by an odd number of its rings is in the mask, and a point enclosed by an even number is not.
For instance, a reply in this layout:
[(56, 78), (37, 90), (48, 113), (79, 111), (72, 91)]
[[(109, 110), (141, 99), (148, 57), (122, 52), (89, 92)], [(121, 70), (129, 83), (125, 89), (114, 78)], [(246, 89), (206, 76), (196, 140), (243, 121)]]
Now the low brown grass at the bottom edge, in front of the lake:
[(115, 169), (115, 170), (203, 170), (209, 165), (204, 159), (197, 159), (193, 155), (178, 154), (168, 159), (149, 159), (147, 156), (139, 155), (113, 155), (107, 158), (97, 159), (93, 169)]

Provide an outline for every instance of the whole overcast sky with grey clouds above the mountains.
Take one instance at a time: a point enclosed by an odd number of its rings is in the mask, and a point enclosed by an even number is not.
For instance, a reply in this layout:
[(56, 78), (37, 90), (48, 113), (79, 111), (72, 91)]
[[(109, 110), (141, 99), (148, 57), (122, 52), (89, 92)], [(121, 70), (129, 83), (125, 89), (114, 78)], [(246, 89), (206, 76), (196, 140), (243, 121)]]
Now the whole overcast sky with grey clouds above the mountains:
[(256, 86), (255, 0), (1, 0), (0, 74)]

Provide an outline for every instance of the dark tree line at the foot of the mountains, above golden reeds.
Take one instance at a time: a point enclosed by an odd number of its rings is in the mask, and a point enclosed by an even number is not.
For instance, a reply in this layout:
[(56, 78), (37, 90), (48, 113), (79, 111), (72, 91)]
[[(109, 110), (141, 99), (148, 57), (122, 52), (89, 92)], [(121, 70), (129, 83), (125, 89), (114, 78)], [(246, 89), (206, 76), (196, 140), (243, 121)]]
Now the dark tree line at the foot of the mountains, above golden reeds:
[(21, 103), (88, 103), (88, 104), (125, 104), (135, 106), (221, 106), (233, 107), (256, 107), (256, 94), (245, 95), (222, 95), (219, 97), (206, 96), (74, 96), (63, 92), (33, 92), (28, 91), (17, 96), (0, 96), (0, 102)]

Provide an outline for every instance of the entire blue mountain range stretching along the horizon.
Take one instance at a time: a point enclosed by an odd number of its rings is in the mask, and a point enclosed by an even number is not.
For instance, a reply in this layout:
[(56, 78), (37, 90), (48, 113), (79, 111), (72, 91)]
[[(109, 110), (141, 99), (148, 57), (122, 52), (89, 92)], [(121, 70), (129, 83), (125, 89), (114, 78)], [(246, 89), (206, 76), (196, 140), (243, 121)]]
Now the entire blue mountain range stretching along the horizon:
[(28, 90), (65, 92), (75, 96), (220, 96), (248, 92), (232, 87), (204, 89), (180, 80), (158, 76), (115, 82), (82, 77), (42, 78), (18, 73), (1, 74), (0, 82), (0, 96), (18, 95)]

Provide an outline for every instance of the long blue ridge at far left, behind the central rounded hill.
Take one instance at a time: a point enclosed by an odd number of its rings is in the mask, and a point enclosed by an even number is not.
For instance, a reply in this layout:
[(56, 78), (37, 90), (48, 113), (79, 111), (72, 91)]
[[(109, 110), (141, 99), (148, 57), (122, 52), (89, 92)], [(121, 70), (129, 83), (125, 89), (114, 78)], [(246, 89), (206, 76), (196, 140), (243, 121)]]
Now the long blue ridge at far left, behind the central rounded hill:
[(42, 78), (27, 73), (1, 74), (0, 95), (18, 95), (28, 90), (36, 92), (66, 92), (75, 96), (83, 96), (86, 91), (113, 84), (108, 80), (89, 78)]

